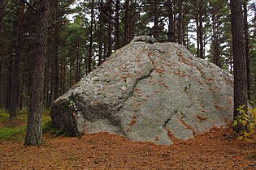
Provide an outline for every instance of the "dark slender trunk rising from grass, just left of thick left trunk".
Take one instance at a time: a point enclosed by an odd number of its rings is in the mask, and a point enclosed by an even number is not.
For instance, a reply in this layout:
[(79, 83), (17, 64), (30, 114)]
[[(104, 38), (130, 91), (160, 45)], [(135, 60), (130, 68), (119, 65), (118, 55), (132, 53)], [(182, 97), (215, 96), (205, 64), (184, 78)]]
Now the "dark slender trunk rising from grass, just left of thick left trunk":
[(19, 5), (19, 20), (18, 20), (18, 28), (16, 34), (16, 47), (15, 47), (15, 56), (14, 56), (14, 64), (11, 75), (11, 98), (10, 98), (10, 115), (9, 119), (13, 120), (17, 118), (17, 108), (19, 107), (19, 99), (20, 99), (20, 58), (21, 58), (21, 45), (22, 45), (22, 30), (24, 24), (24, 10), (25, 3), (20, 1)]

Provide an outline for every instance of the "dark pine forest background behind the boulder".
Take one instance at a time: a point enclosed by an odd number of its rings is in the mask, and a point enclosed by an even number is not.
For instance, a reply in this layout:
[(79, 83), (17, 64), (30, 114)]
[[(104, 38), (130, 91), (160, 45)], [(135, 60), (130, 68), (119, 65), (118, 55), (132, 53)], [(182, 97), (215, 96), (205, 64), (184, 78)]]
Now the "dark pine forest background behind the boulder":
[[(0, 0), (0, 108), (27, 108), (37, 17), (29, 0)], [(226, 0), (50, 1), (44, 107), (134, 36), (184, 45), (233, 73), (230, 5)], [(256, 100), (256, 5), (244, 1), (249, 100)]]

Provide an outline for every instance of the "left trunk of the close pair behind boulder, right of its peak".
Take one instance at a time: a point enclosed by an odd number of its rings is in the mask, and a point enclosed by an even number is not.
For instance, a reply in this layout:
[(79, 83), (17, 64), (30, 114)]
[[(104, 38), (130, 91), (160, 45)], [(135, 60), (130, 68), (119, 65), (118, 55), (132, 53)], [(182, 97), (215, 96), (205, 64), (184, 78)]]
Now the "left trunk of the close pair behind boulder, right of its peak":
[(174, 17), (173, 17), (173, 4), (171, 0), (167, 0), (167, 11), (168, 11), (168, 40), (170, 42), (175, 41), (175, 22), (174, 22)]

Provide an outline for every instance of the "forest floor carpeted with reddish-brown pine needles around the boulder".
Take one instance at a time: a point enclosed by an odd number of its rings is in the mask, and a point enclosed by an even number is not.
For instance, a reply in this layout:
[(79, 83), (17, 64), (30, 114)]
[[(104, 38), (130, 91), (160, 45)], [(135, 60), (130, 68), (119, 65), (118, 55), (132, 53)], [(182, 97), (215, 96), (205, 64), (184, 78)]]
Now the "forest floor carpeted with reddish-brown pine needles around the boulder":
[[(23, 121), (0, 121), (0, 130)], [(232, 130), (213, 129), (171, 146), (130, 142), (115, 134), (81, 138), (43, 135), (43, 145), (0, 140), (0, 169), (256, 169), (256, 140), (239, 140)]]

